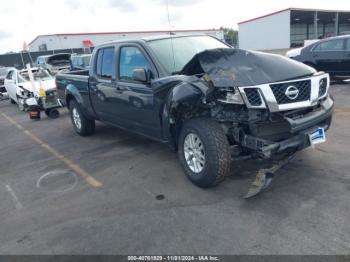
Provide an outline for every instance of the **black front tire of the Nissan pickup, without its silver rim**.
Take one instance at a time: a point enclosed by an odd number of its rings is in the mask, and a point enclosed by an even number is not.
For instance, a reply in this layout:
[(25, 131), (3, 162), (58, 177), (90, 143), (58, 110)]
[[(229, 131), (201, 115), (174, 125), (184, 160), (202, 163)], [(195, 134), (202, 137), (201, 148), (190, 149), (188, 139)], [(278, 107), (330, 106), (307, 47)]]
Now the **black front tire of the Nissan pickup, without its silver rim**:
[[(199, 173), (193, 172), (185, 159), (185, 139), (195, 134), (203, 143), (205, 164)], [(181, 130), (178, 140), (178, 156), (190, 181), (202, 188), (214, 187), (230, 173), (231, 154), (228, 139), (222, 127), (210, 119), (192, 119)]]

